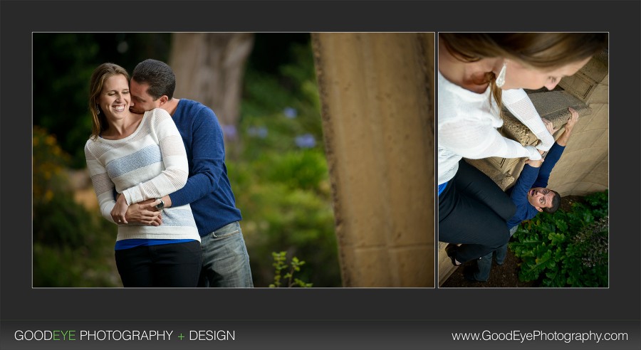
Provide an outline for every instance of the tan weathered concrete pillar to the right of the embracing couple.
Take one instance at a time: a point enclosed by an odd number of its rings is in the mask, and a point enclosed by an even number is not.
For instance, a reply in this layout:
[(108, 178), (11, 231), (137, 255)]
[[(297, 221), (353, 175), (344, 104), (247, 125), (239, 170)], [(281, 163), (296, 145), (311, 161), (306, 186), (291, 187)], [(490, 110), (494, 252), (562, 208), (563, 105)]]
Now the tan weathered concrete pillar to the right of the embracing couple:
[(434, 286), (434, 34), (314, 33), (345, 287)]

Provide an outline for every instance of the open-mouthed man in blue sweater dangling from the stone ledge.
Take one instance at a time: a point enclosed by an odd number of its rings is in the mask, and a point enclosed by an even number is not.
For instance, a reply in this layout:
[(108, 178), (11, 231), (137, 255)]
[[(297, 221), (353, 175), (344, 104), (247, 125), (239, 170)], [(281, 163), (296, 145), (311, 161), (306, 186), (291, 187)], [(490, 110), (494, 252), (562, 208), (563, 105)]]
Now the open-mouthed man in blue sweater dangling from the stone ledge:
[[(556, 191), (547, 189), (546, 186), (548, 186), (550, 173), (558, 159), (561, 158), (563, 150), (566, 149), (572, 129), (578, 121), (578, 112), (572, 107), (568, 107), (568, 110), (570, 111), (570, 117), (566, 122), (566, 129), (549, 150), (545, 161), (543, 159), (526, 161), (518, 180), (516, 180), (516, 184), (508, 190), (512, 202), (516, 205), (516, 213), (507, 222), (510, 235), (516, 232), (521, 222), (530, 220), (542, 211), (554, 213), (561, 205), (561, 195)], [(551, 134), (556, 131), (554, 129), (548, 130)], [(466, 266), (464, 277), (467, 280), (486, 282), (489, 279), (489, 272), (492, 267), (492, 255), (496, 254), (496, 264), (502, 265), (507, 255), (507, 248), (508, 244), (506, 243), (494, 250), (494, 252), (476, 260), (476, 266)]]

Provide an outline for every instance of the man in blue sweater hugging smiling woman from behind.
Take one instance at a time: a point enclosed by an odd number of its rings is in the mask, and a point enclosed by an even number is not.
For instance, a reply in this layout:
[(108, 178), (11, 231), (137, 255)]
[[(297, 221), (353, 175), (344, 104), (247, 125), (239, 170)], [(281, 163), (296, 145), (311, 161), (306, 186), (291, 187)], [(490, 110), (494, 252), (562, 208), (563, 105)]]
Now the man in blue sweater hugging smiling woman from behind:
[(209, 107), (173, 98), (175, 86), (175, 75), (166, 63), (152, 59), (138, 63), (131, 75), (130, 110), (144, 113), (162, 108), (169, 112), (187, 150), (187, 184), (169, 196), (132, 204), (125, 218), (159, 225), (163, 220), (160, 209), (189, 203), (202, 245), (198, 286), (254, 287), (239, 224), (241, 212), (227, 177), (222, 128)]

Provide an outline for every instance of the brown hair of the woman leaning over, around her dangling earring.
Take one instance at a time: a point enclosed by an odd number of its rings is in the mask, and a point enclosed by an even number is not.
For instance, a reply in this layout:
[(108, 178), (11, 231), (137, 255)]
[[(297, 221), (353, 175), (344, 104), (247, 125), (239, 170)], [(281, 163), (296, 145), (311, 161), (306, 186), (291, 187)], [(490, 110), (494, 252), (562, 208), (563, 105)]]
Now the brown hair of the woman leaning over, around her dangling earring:
[[(553, 70), (607, 49), (608, 33), (439, 33), (439, 42), (462, 62), (503, 57)], [(486, 82), (500, 110), (501, 89), (494, 73), (486, 73)]]

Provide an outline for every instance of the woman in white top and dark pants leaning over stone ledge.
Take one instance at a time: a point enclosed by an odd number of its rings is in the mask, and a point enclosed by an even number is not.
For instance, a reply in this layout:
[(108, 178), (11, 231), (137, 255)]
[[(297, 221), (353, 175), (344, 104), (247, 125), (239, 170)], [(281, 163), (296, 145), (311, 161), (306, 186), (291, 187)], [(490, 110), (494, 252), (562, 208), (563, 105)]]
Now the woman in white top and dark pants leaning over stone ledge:
[[(453, 243), (446, 248), (453, 265), (504, 245), (515, 211), (463, 158), (541, 159), (554, 138), (523, 89), (552, 90), (607, 43), (606, 33), (439, 33), (439, 240)], [(536, 148), (499, 134), (502, 105), (538, 137)]]

